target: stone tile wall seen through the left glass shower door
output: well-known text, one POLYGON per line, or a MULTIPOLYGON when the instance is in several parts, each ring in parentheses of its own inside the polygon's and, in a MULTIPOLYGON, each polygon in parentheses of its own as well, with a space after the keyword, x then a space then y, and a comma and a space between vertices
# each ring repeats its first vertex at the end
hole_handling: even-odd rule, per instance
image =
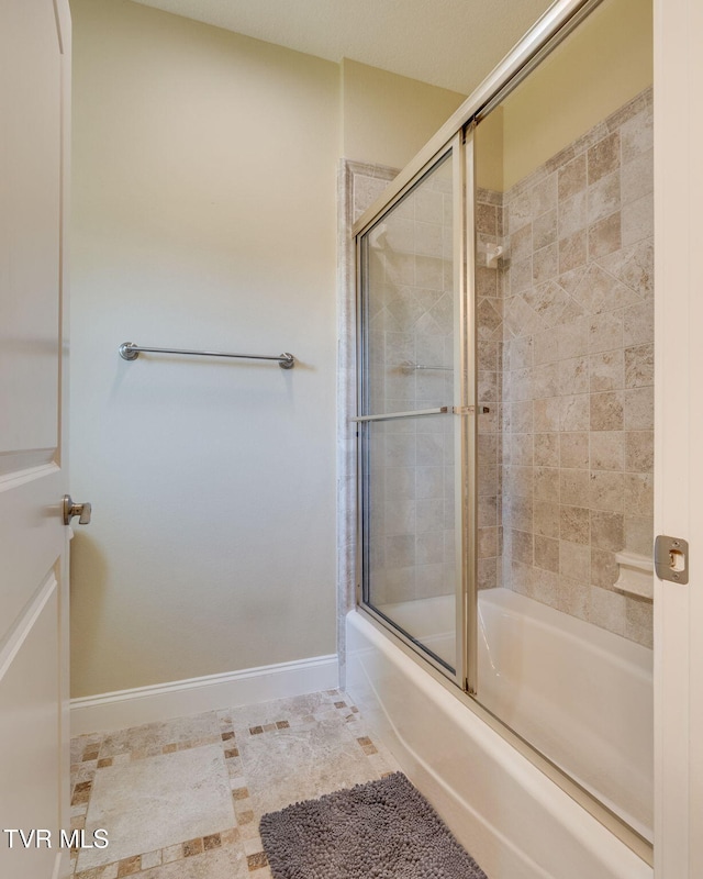
MULTIPOLYGON (((451 210, 449 180, 433 176, 372 236, 375 414, 453 402, 451 210)), ((375 604, 454 591, 453 422, 439 415, 370 427, 375 604)))

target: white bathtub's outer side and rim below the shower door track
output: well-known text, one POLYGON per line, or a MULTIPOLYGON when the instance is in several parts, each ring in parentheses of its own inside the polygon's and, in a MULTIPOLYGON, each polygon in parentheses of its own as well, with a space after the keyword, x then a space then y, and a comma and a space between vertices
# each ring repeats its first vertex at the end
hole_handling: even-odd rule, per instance
POLYGON ((366 616, 352 611, 347 626, 352 697, 491 879, 652 879, 647 864, 366 616))

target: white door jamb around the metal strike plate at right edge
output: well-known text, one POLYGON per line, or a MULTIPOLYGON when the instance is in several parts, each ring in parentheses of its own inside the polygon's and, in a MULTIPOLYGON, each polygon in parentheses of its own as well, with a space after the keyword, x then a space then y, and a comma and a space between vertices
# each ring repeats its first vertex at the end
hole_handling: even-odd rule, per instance
POLYGON ((655 876, 703 876, 703 3, 655 1, 655 528, 690 545, 655 580, 655 876))

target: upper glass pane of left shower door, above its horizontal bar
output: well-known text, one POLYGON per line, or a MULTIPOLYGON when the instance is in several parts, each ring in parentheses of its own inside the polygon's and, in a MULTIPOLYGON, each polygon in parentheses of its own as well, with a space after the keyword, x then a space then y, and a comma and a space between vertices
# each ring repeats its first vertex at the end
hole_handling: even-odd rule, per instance
POLYGON ((451 153, 364 235, 364 414, 446 405, 454 393, 451 153))

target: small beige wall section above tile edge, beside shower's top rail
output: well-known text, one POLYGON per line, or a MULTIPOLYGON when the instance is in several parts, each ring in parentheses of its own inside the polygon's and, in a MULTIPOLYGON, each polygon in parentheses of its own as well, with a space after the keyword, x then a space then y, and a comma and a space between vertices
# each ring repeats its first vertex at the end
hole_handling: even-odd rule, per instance
POLYGON ((403 168, 465 100, 465 94, 342 63, 344 155, 403 168))

